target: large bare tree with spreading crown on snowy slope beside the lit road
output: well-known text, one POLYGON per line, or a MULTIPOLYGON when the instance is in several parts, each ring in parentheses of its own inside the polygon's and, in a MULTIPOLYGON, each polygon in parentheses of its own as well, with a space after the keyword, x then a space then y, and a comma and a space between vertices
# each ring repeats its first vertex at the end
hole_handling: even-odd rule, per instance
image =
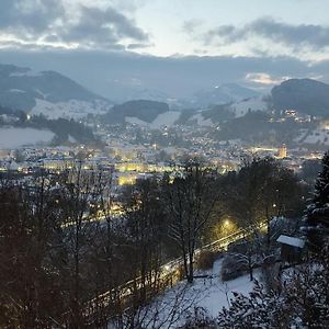
POLYGON ((193 282, 194 256, 202 229, 218 200, 217 173, 198 162, 189 162, 181 177, 167 183, 169 236, 178 245, 188 282, 193 282))

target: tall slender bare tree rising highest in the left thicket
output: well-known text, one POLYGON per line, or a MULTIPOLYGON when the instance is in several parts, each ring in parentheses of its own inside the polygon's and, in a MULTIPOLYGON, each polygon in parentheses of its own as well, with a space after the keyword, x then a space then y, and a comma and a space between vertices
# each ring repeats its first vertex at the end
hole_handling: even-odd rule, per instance
POLYGON ((102 193, 102 175, 97 170, 84 170, 79 161, 60 177, 59 202, 64 212, 64 243, 67 248, 66 275, 69 277, 68 322, 80 328, 83 325, 84 300, 90 294, 90 284, 82 285, 87 275, 87 256, 98 235, 99 222, 94 212, 102 193))

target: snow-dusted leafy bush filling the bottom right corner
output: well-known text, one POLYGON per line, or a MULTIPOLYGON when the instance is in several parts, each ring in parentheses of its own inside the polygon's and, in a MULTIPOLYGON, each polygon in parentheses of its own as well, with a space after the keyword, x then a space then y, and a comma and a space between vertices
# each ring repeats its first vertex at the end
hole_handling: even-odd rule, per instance
POLYGON ((329 246, 283 271, 276 288, 256 282, 249 296, 235 293, 218 316, 219 328, 329 328, 329 246))

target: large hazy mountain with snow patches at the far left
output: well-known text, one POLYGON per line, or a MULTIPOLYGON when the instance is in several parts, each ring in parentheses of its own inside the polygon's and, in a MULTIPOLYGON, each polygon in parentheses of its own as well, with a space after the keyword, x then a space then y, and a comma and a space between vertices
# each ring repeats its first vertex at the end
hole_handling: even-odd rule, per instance
POLYGON ((64 114, 67 117, 75 117, 77 112, 70 113, 73 112, 71 104, 66 106, 72 101, 84 105, 81 110, 82 116, 87 113, 99 112, 110 104, 106 99, 61 73, 34 72, 30 68, 0 65, 0 105, 32 113, 38 105, 35 114, 41 114, 43 107, 48 106, 48 113, 47 111, 43 113, 46 116, 59 117, 64 114), (60 113, 56 113, 58 106, 60 106, 60 113))

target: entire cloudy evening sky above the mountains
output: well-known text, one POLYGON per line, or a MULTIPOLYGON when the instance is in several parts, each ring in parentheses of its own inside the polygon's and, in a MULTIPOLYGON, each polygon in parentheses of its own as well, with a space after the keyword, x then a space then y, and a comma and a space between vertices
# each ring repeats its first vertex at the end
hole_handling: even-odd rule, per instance
POLYGON ((328 12, 327 0, 0 0, 0 61, 56 69, 107 97, 329 82, 328 12))

